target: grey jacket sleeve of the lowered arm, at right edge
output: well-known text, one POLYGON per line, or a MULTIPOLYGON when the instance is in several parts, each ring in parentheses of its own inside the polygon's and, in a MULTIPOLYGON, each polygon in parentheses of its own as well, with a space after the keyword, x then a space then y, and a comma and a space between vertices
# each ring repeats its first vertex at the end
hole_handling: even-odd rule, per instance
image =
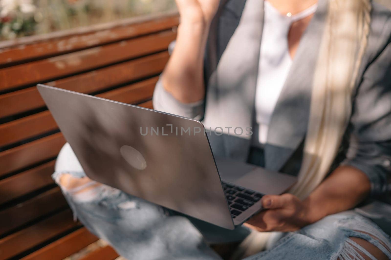
POLYGON ((344 165, 364 172, 371 196, 389 192, 391 175, 391 42, 366 68, 353 101, 344 165))

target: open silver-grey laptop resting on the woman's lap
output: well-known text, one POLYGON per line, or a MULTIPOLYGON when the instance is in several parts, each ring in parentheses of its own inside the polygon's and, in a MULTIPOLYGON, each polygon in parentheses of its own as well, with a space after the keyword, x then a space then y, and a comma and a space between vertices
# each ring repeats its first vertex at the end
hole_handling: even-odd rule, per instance
POLYGON ((201 122, 39 84, 57 125, 93 180, 227 229, 296 177, 213 156, 201 122))

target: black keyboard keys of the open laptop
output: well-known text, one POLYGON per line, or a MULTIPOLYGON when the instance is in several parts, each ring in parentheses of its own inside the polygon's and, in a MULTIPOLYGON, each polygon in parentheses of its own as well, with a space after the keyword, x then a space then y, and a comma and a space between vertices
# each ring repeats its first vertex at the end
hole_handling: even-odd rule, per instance
POLYGON ((236 218, 242 212, 258 202, 264 194, 222 181, 225 195, 230 205, 232 218, 236 218))

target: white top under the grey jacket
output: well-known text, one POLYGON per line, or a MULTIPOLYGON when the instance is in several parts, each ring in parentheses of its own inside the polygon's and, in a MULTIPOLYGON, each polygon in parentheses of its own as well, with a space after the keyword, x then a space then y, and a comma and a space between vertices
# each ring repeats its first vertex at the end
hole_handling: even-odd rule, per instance
POLYGON ((278 97, 292 65, 288 33, 293 22, 301 20, 317 9, 317 4, 292 15, 282 15, 265 1, 264 28, 260 49, 258 78, 255 91, 255 124, 253 145, 262 146, 278 97))

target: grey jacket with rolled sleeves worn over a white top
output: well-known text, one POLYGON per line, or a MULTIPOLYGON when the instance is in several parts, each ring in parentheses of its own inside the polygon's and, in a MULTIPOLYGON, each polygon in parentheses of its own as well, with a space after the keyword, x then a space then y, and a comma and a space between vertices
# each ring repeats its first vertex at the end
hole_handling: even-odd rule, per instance
MULTIPOLYGON (((205 126, 246 128, 253 122, 264 10, 259 0, 222 2, 206 48, 205 100, 180 103, 159 81, 153 105, 156 110, 202 120, 205 126), (242 18, 244 13, 251 21, 242 18), (235 52, 228 51, 230 48, 235 52), (226 67, 219 68, 222 59, 231 62, 224 62, 226 67), (238 70, 245 70, 246 78, 235 76, 238 70), (217 71, 224 71, 224 75, 218 75, 217 71), (218 85, 213 84, 216 80, 218 85)), ((273 112, 265 145, 265 164, 271 170, 297 174, 300 169, 327 5, 328 0, 319 0, 273 112)), ((341 145, 342 156, 337 157, 335 164, 351 165, 366 173, 372 185, 371 195, 381 196, 389 191, 391 173, 391 11, 374 2, 371 18, 368 47, 353 92, 346 142, 341 145)), ((210 138, 210 142, 214 154, 242 161, 247 159, 251 143, 249 138, 225 134, 210 138)))

